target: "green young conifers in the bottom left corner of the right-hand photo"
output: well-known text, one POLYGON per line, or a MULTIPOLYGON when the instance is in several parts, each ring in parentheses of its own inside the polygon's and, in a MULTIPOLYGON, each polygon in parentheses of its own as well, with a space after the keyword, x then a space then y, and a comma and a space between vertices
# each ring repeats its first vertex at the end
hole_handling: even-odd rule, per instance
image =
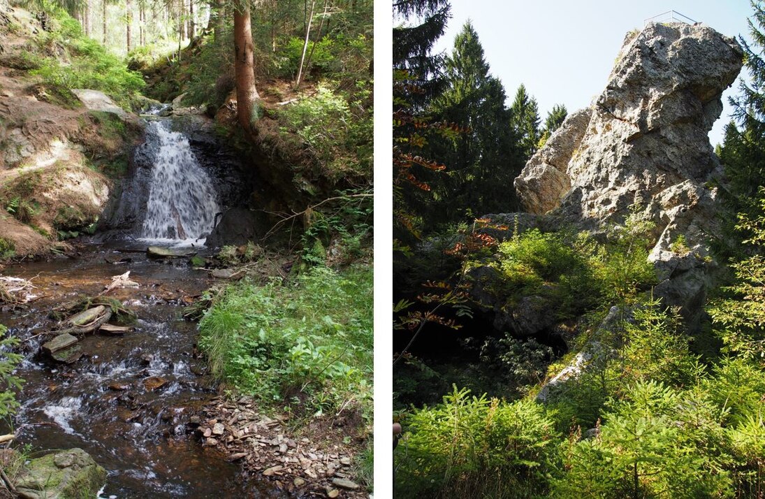
POLYGON ((397 497, 531 497, 555 453, 552 419, 529 400, 454 390, 405 419, 396 451, 397 497))

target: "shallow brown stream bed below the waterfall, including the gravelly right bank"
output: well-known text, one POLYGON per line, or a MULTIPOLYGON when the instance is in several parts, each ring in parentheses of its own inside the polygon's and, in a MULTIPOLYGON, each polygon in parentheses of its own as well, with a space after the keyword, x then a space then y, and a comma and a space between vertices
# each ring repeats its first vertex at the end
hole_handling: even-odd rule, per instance
POLYGON ((84 449, 108 473, 99 497, 366 497, 351 481, 352 445, 295 435, 249 397, 218 393, 182 315, 216 279, 145 247, 78 244, 71 257, 3 269, 34 288, 28 303, 0 308, 25 354, 15 427, 2 422, 0 434, 35 455, 84 449), (104 292, 127 271, 138 287, 104 292), (70 364, 46 354, 44 333, 60 326, 50 311, 100 293, 135 312, 129 331, 78 335, 70 364))

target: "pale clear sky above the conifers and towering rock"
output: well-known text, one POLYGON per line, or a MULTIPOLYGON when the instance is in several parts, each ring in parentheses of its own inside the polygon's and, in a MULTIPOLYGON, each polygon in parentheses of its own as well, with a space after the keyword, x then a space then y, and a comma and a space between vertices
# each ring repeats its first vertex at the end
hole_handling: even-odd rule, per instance
MULTIPOLYGON (((748 0, 451 0, 452 18, 436 51, 451 52, 454 36, 469 18, 509 102, 523 83, 539 103, 543 122, 555 104, 565 104, 569 113, 588 106, 604 90, 627 31, 670 10, 748 39, 748 0)), ((727 96, 737 86, 724 93, 725 109, 709 134, 712 145, 722 142, 731 114, 727 96)))

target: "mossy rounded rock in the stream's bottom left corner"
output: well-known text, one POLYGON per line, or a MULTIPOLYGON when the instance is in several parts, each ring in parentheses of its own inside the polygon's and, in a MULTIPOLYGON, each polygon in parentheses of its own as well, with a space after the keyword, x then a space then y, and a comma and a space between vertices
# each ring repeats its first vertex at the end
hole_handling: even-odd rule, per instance
POLYGON ((70 448, 29 461, 16 489, 24 499, 85 499, 105 482, 104 468, 83 449, 70 448))

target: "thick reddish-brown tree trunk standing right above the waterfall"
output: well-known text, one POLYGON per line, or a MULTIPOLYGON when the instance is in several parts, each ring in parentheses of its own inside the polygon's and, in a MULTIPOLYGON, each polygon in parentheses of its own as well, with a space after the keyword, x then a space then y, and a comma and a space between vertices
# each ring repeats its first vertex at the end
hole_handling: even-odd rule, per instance
POLYGON ((252 28, 249 5, 243 2, 234 9, 234 73, 236 75, 236 113, 239 124, 252 132, 260 96, 255 87, 255 64, 252 58, 252 28))

